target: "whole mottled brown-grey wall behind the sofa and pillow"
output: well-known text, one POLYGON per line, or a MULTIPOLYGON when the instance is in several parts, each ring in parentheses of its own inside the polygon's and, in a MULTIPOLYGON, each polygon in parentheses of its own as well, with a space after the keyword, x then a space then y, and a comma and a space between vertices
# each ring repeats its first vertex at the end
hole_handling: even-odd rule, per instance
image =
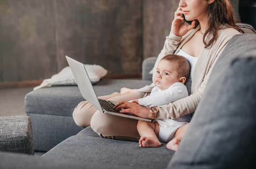
MULTIPOLYGON (((238 0, 233 0, 238 9, 238 0)), ((108 74, 157 56, 179 0, 0 0, 0 82, 50 78, 65 55, 108 74)))

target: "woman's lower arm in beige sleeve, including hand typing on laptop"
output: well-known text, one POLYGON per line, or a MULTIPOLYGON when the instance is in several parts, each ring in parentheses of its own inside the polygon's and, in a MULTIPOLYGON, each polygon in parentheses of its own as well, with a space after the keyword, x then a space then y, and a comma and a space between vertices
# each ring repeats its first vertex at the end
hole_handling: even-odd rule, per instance
MULTIPOLYGON (((211 71, 216 64, 216 61, 222 54, 222 51, 226 47, 226 44, 229 42, 229 40, 237 34, 239 34, 239 32, 235 31, 234 29, 223 29, 219 31, 219 39, 217 40, 215 45, 211 47, 211 50, 207 53, 209 56, 211 56, 209 58, 210 61, 208 61, 207 63, 202 63, 205 70, 202 72, 199 71, 200 74, 198 76, 202 77, 202 80, 200 78, 199 80, 193 79, 194 82, 195 80, 199 81, 198 83, 192 83, 192 86, 194 86, 192 88, 196 89, 196 91, 193 92, 190 96, 174 101, 173 103, 158 106, 159 113, 157 115, 157 119, 177 119, 182 115, 187 115, 196 111, 196 107, 199 104, 199 101, 203 95, 208 79, 211 75, 211 71), (197 87, 197 85, 199 86, 197 87)), ((133 108, 132 104, 122 102, 116 108, 128 108, 120 112, 132 112, 133 114, 144 118, 151 117, 149 108, 145 108, 143 106, 140 106, 139 104, 136 104, 136 107, 133 108)))

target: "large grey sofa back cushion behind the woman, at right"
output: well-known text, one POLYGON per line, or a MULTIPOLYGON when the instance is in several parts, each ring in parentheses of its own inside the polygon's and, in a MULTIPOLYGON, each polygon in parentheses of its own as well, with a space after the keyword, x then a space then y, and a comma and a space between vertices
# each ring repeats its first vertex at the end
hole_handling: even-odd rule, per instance
POLYGON ((255 44, 256 35, 242 34, 230 40, 170 169, 256 168, 255 44))

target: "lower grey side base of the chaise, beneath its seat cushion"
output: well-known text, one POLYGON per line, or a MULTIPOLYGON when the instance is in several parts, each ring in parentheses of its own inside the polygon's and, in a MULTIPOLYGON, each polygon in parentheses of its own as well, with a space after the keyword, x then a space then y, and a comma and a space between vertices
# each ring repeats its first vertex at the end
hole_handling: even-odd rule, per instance
POLYGON ((72 116, 27 113, 31 118, 34 149, 49 151, 51 148, 74 136, 83 128, 75 124, 72 116))

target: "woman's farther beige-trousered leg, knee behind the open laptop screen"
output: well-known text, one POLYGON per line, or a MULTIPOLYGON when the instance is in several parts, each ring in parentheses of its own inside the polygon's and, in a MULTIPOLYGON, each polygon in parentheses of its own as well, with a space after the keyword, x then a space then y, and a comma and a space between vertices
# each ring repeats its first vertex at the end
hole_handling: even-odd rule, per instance
MULTIPOLYGON (((98 97, 98 98, 110 99, 112 97, 117 97, 117 96, 121 96, 121 94, 115 92, 113 94, 98 97)), ((86 128, 90 126, 91 117, 94 115, 96 111, 97 111, 97 108, 91 105, 88 101, 82 101, 75 107, 73 111, 73 119, 78 126, 86 128)))

